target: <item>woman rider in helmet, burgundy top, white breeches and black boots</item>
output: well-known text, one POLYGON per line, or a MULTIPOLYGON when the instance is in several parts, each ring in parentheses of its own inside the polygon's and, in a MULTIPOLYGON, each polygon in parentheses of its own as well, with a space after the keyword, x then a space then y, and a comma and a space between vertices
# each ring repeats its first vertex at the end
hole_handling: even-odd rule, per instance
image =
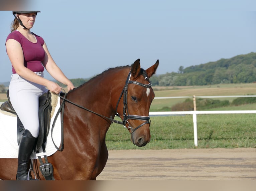
POLYGON ((48 90, 55 94, 61 91, 58 84, 43 78, 44 68, 68 90, 74 85, 53 61, 43 38, 30 31, 40 11, 12 13, 15 19, 5 44, 12 64, 9 96, 25 128, 19 143, 16 180, 27 180, 29 157, 39 134, 38 98, 48 90))

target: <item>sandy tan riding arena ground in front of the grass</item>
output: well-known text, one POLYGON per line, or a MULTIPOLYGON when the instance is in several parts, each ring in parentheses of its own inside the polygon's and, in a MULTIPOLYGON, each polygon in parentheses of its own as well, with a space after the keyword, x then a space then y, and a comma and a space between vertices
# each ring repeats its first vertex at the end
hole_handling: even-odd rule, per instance
POLYGON ((256 180, 256 148, 110 150, 97 180, 256 180))

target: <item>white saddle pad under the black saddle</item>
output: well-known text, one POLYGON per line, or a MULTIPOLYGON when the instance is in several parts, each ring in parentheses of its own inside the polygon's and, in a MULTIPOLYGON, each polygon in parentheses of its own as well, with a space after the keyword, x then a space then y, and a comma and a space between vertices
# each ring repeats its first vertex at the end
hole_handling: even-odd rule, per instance
MULTIPOLYGON (((56 96, 56 95, 55 95, 56 96)), ((57 149, 55 148, 52 139, 51 139, 51 128, 53 119, 59 108, 59 100, 56 101, 57 107, 54 110, 54 113, 51 118, 50 130, 45 143, 45 151, 46 155, 50 156, 54 154, 57 149)), ((52 105, 53 107, 53 105, 52 105)), ((53 127, 53 141, 59 146, 60 145, 60 114, 56 120, 56 123, 53 127)), ((17 118, 15 116, 6 115, 0 112, 0 158, 18 158, 18 143, 17 143, 17 118)), ((41 149, 39 149, 40 151, 41 149)), ((39 154, 34 154, 34 158, 38 158, 37 156, 43 156, 45 153, 41 152, 39 154)))

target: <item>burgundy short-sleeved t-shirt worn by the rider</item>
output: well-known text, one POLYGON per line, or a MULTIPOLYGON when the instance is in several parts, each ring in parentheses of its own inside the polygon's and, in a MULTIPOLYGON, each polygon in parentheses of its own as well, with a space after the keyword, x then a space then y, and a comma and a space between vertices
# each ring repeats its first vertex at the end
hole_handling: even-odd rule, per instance
MULTIPOLYGON (((42 72, 44 67, 41 63, 43 61, 45 52, 43 49, 44 40, 42 37, 32 33, 36 38, 36 43, 32 43, 26 39, 19 31, 15 30, 7 36, 7 39, 14 39, 21 44, 24 54, 24 66, 33 72, 42 72)), ((12 73, 16 74, 12 67, 12 73)))

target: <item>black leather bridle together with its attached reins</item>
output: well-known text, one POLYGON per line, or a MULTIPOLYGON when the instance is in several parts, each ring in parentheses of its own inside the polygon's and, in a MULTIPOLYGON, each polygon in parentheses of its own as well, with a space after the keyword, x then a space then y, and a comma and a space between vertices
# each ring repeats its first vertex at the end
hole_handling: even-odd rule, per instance
MULTIPOLYGON (((116 105, 116 111, 117 111, 117 107, 118 107, 118 105, 119 105, 119 102, 120 102, 120 100, 121 100, 121 97, 122 97, 122 95, 124 95, 124 96, 123 96, 123 104, 124 104, 124 107, 123 107, 123 121, 115 120, 115 119, 112 118, 112 116, 106 117, 106 116, 104 116, 104 115, 101 115, 101 114, 99 114, 99 113, 96 113, 96 112, 94 112, 94 111, 92 111, 92 110, 90 110, 90 109, 87 109, 86 107, 83 107, 83 106, 81 106, 81 105, 78 105, 78 104, 76 104, 76 103, 70 101, 69 99, 66 98, 66 97, 67 97, 67 93, 65 92, 65 90, 62 89, 62 90, 65 92, 65 95, 64 95, 64 97, 63 97, 63 96, 61 96, 61 95, 58 94, 58 96, 59 96, 61 99, 63 99, 63 101, 62 101, 62 103, 61 103, 61 105, 60 105, 60 107, 59 107, 59 109, 58 109, 58 111, 57 111, 57 114, 56 114, 54 120, 53 120, 52 129, 51 129, 51 137, 52 137, 53 127, 54 127, 54 125, 55 125, 57 116, 58 116, 59 113, 61 112, 61 142, 60 142, 60 148, 59 148, 59 147, 57 147, 57 146, 55 145, 55 143, 54 143, 54 141, 53 141, 53 138, 52 138, 52 141, 53 141, 53 144, 54 144, 55 148, 56 148, 57 150, 59 150, 59 151, 62 151, 62 150, 64 149, 64 144, 63 144, 63 140, 64 140, 64 137, 63 137, 63 115, 64 115, 65 101, 67 101, 67 102, 69 102, 69 103, 71 103, 71 104, 73 104, 73 105, 76 105, 76 106, 79 107, 79 108, 82 108, 82 109, 84 109, 84 110, 87 110, 87 111, 89 111, 89 112, 91 112, 91 113, 94 113, 94 114, 96 114, 96 115, 98 115, 98 116, 100 116, 100 117, 103 117, 103 118, 105 118, 105 119, 108 119, 108 120, 111 121, 111 123, 118 123, 118 124, 121 124, 121 125, 123 125, 125 128, 131 129, 131 130, 132 130, 131 134, 132 134, 134 131, 136 131, 138 128, 140 128, 141 126, 143 126, 143 125, 145 125, 145 124, 147 124, 147 123, 150 125, 150 117, 149 117, 149 116, 130 115, 129 112, 128 112, 128 105, 127 105, 128 84, 135 84, 135 85, 142 86, 142 87, 144 87, 144 88, 150 88, 150 87, 151 87, 151 81, 149 81, 149 79, 148 79, 148 77, 146 76, 145 73, 143 73, 143 76, 144 76, 145 80, 147 80, 147 81, 149 82, 149 84, 142 84, 142 83, 137 82, 137 81, 130 81, 130 78, 131 78, 131 71, 130 71, 129 74, 128 74, 128 77, 127 77, 126 82, 125 82, 125 86, 124 86, 124 88, 123 88, 123 90, 122 90, 122 92, 121 92, 121 95, 120 95, 120 97, 119 97, 119 99, 118 99, 118 102, 117 102, 117 105, 116 105), (126 114, 126 110, 127 110, 127 114, 126 114), (127 120, 129 120, 129 119, 133 119, 133 120, 142 120, 142 121, 145 121, 145 122, 142 123, 142 124, 140 124, 139 126, 137 126, 136 128, 133 129, 133 128, 130 126, 130 123, 127 121, 127 120), (128 125, 129 125, 128 127, 126 127, 126 123, 128 123, 128 125)), ((120 117, 120 115, 119 115, 117 112, 116 112, 116 116, 120 117)), ((120 118, 121 118, 121 117, 120 117, 120 118)))

